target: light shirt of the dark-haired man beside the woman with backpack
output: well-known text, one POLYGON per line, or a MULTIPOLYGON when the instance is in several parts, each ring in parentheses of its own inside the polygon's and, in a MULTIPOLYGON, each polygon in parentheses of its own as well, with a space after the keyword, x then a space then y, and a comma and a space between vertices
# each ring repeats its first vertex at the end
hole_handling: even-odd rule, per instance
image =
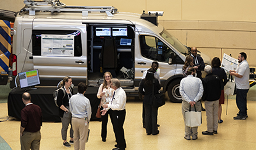
POLYGON ((90 101, 84 96, 84 94, 77 93, 71 96, 69 100, 69 109, 72 113, 72 117, 83 118, 87 117, 88 121, 91 119, 92 109, 90 101))

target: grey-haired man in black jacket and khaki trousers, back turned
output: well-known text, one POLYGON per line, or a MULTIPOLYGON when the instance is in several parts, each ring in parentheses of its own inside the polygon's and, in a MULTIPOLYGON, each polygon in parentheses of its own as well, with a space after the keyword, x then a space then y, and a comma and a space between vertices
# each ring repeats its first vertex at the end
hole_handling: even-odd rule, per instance
POLYGON ((217 75, 212 74, 212 67, 205 66, 206 77, 203 79, 205 111, 207 117, 207 130, 202 131, 203 135, 217 134, 218 130, 218 107, 221 94, 221 80, 217 75))

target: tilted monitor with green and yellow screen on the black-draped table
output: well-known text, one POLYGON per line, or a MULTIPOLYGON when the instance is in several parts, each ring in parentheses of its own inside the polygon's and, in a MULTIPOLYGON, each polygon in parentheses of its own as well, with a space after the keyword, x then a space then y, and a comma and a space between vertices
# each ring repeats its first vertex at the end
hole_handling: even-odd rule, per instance
POLYGON ((19 82, 20 88, 31 87, 40 84, 39 73, 38 70, 31 70, 26 72, 20 72, 19 82))

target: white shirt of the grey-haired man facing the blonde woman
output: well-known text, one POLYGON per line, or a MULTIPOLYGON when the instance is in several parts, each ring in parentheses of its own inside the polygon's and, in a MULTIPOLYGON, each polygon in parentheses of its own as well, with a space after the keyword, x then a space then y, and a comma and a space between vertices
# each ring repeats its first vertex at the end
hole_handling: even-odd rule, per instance
POLYGON ((126 105, 126 94, 122 87, 119 87, 114 92, 112 101, 108 104, 108 108, 112 110, 124 110, 126 105))

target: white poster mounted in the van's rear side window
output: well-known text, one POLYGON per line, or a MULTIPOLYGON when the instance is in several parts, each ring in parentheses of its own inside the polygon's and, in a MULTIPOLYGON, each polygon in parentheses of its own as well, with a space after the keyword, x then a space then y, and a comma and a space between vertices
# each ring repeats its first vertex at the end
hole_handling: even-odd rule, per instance
POLYGON ((42 56, 74 56, 74 35, 42 34, 42 56))

